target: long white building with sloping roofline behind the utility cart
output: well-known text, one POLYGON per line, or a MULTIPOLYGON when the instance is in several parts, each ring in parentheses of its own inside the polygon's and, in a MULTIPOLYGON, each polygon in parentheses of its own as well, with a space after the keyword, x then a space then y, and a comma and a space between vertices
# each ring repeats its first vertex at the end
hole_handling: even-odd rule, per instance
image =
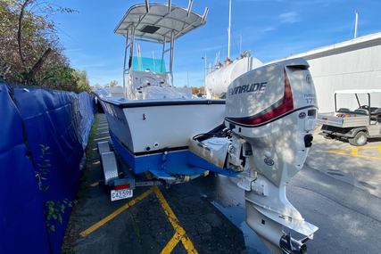
MULTIPOLYGON (((319 112, 334 111, 336 90, 381 88, 381 32, 294 54, 277 61, 296 57, 303 57, 310 63, 319 112)), ((338 98, 339 108, 358 108, 354 96, 340 96, 348 97, 338 98)), ((365 100, 366 98, 360 98, 361 102, 365 100)), ((381 96, 372 97, 372 106, 381 107, 381 96)))

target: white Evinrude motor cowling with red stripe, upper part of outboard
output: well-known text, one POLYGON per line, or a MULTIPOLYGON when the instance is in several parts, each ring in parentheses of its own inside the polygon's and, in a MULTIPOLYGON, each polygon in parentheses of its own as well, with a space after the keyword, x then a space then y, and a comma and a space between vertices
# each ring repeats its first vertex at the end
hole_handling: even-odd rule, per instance
POLYGON ((252 144, 257 171, 276 185, 302 168, 311 147, 317 100, 308 68, 304 59, 281 61, 228 87, 225 125, 252 144))

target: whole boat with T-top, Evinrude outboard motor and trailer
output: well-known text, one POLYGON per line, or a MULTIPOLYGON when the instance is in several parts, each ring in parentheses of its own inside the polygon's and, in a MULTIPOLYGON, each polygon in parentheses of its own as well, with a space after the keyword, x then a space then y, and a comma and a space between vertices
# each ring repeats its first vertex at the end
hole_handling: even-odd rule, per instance
POLYGON ((93 90, 110 126, 113 152, 108 142, 98 143, 98 152, 104 183, 114 188, 112 201, 132 197, 135 186, 178 184, 209 170, 226 176, 246 171, 237 185, 244 190, 247 225, 274 254, 306 253, 305 242, 318 227, 287 200, 286 185, 302 169, 316 126, 310 65, 304 59, 272 63, 230 80, 226 101, 194 98, 173 86, 172 75, 175 39, 206 22, 207 10, 191 11, 192 2, 184 8, 145 1, 129 8, 114 30, 127 38, 123 96, 93 90), (137 39, 162 44, 170 70, 162 60, 134 59, 137 39), (160 181, 136 181, 128 166, 160 181), (285 226, 305 238, 292 238, 285 226))

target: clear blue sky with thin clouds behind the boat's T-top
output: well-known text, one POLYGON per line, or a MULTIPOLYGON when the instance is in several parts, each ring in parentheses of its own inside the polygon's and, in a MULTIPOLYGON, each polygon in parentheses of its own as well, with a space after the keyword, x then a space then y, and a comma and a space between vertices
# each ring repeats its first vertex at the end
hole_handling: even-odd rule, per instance
MULTIPOLYGON (((121 17, 141 1, 57 0, 55 4, 79 13, 57 14, 54 22, 71 66, 86 69, 90 85, 112 80, 122 85, 125 38, 113 34, 121 17)), ((149 1, 168 3, 168 1, 149 1)), ((175 42, 174 85, 203 86, 205 55, 213 63, 228 55, 228 0, 194 0, 192 10, 207 23, 175 42), (224 53, 225 47, 225 53, 224 53)), ((187 6, 188 1, 172 0, 187 6)), ((355 12, 359 12, 358 37, 381 31, 379 0, 232 0, 231 58, 242 50, 262 62, 339 43, 354 36, 355 12)), ((138 42, 139 43, 139 42, 138 42)), ((152 44, 139 43, 142 56, 152 56, 152 44)), ((157 46, 156 46, 157 48, 157 46)), ((155 55, 159 55, 159 50, 155 55)))

